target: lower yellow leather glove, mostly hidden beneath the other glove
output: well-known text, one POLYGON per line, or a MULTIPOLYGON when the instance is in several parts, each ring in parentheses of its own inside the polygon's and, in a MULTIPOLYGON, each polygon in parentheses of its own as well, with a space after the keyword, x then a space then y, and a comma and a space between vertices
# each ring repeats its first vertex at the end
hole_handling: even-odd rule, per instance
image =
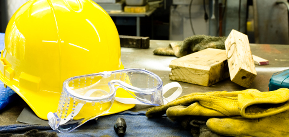
POLYGON ((289 137, 289 111, 264 118, 210 118, 208 128, 226 136, 289 137))

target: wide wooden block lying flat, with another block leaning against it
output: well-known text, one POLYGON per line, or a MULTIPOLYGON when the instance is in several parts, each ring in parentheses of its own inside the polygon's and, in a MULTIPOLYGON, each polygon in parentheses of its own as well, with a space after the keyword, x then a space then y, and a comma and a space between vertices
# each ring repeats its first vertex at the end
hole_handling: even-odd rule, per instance
POLYGON ((171 61, 169 79, 211 86, 229 77, 226 50, 207 48, 171 61))

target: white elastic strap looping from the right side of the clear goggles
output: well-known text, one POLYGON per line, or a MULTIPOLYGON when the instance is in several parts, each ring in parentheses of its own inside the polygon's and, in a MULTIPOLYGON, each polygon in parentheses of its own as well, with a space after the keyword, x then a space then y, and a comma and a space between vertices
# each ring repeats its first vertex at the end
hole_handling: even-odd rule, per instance
MULTIPOLYGON (((178 83, 178 82, 171 82, 171 83, 168 83, 166 85, 164 85, 163 87, 163 94, 165 94, 167 91, 169 91, 170 89, 174 88, 174 87, 177 87, 178 89, 172 94, 170 95, 169 97, 165 98, 163 97, 164 99, 164 105, 177 99, 179 97, 179 95, 182 94, 182 87, 181 85, 178 83)), ((123 103, 123 104, 138 104, 138 105, 147 105, 143 102, 140 102, 139 100, 135 99, 135 98, 121 98, 121 97, 115 97, 115 100, 117 102, 120 102, 120 103, 123 103)))

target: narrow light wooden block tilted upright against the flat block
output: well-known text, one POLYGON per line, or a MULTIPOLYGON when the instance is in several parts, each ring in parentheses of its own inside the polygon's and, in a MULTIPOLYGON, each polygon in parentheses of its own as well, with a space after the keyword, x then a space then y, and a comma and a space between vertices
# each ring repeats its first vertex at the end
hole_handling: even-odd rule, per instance
POLYGON ((225 47, 231 81, 248 88, 257 75, 248 36, 232 30, 225 41, 225 47))

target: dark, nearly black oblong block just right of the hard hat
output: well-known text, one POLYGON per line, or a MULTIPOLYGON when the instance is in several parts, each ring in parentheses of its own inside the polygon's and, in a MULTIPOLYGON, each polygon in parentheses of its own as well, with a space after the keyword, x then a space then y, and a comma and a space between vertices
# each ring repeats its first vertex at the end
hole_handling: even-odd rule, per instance
POLYGON ((120 35, 120 47, 149 48, 149 37, 120 35))

